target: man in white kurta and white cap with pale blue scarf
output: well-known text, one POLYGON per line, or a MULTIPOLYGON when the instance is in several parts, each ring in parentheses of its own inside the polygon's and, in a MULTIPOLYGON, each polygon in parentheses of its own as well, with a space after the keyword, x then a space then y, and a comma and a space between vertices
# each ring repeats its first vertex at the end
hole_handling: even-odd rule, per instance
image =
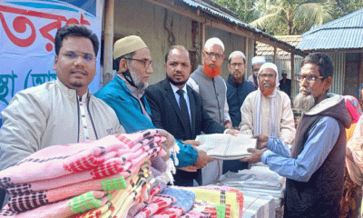
POLYGON ((294 116, 288 94, 277 89, 278 78, 275 64, 262 64, 258 74, 259 89, 247 95, 240 108, 240 132, 280 137, 291 144, 296 132, 294 116))

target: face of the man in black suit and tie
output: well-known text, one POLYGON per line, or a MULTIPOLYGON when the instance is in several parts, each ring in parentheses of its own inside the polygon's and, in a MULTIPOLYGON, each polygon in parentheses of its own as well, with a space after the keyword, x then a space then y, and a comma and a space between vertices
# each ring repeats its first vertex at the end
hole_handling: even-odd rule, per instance
POLYGON ((191 60, 187 52, 172 49, 164 66, 169 81, 179 88, 184 87, 191 74, 191 60))

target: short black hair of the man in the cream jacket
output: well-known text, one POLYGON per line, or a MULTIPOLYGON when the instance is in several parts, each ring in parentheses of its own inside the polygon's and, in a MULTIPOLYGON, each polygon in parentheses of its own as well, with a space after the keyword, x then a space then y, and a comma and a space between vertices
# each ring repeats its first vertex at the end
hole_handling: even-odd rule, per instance
POLYGON ((97 55, 100 41, 98 40, 97 35, 93 34, 92 30, 85 27, 85 25, 64 25, 57 31, 54 38, 56 55, 59 55, 63 40, 69 36, 89 38, 93 44, 94 54, 97 55))

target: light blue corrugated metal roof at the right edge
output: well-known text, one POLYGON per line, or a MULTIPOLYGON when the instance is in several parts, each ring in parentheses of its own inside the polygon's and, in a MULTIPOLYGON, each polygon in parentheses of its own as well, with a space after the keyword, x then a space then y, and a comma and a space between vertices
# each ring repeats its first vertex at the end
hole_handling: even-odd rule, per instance
POLYGON ((331 21, 302 35, 302 50, 363 48, 363 9, 331 21))

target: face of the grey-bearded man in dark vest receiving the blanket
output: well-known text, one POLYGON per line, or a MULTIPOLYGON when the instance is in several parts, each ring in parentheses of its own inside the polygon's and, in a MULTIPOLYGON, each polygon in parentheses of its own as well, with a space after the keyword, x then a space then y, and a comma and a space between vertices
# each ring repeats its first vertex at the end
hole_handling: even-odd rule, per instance
POLYGON ((307 79, 299 81, 300 93, 307 96, 311 94, 315 99, 315 104, 321 102, 329 90, 331 77, 325 79, 319 77, 321 74, 319 73, 319 65, 317 64, 304 64, 301 67, 300 74, 312 74, 317 76, 317 79, 315 81, 311 81, 310 83, 307 81, 307 79))

